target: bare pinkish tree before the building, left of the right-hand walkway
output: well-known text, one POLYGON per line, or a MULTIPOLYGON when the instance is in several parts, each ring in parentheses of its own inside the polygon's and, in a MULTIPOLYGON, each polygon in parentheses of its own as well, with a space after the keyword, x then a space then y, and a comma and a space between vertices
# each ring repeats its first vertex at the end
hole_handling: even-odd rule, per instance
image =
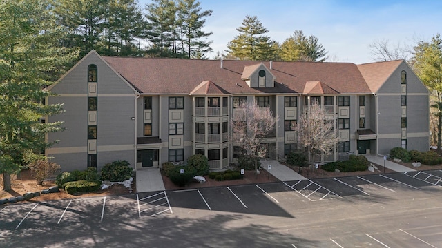
POLYGON ((259 107, 256 101, 240 103, 231 120, 233 142, 242 148, 243 155, 249 158, 264 158, 267 149, 261 145, 261 141, 275 130, 277 119, 269 107, 259 107))

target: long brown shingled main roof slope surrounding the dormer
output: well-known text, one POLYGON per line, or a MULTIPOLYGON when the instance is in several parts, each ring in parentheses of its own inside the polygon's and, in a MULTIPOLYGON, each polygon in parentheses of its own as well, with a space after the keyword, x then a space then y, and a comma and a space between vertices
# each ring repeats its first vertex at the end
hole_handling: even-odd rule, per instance
POLYGON ((146 94, 195 94, 202 81, 211 81, 214 87, 228 94, 301 94, 307 81, 320 81, 326 94, 372 93, 358 65, 353 63, 273 61, 269 71, 276 78, 275 87, 251 88, 242 80, 244 68, 253 69, 261 63, 270 68, 269 61, 224 60, 221 68, 221 62, 213 60, 113 56, 103 59, 140 93, 146 94))

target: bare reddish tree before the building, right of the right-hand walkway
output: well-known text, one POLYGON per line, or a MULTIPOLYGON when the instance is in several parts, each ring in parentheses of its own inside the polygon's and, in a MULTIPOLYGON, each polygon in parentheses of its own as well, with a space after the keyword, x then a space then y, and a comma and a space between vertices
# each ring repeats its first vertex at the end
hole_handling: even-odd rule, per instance
POLYGON ((339 142, 334 123, 327 121, 318 103, 304 107, 295 127, 298 144, 307 149, 309 161, 312 154, 331 154, 339 142))

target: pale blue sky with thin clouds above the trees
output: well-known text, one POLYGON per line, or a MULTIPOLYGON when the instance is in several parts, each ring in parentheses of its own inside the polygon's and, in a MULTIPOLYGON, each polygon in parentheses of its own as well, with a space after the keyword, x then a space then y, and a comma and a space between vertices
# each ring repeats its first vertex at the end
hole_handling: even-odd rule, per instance
MULTIPOLYGON (((139 0, 144 8, 150 0, 139 0)), ((318 43, 332 62, 356 64, 374 61, 369 45, 388 41, 391 47, 412 48, 417 41, 430 41, 442 31, 442 1, 439 0, 200 0, 202 10, 213 10, 203 30, 213 32, 213 59, 226 53, 227 43, 239 34, 244 18, 256 16, 267 35, 282 43, 295 30, 318 43)))

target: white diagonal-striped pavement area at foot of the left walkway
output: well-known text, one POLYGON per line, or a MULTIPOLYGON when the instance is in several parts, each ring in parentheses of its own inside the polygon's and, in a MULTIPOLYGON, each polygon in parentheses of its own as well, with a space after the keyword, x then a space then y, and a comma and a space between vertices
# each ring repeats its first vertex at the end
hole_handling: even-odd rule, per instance
POLYGON ((164 191, 139 193, 136 197, 139 217, 173 213, 169 196, 164 191))

